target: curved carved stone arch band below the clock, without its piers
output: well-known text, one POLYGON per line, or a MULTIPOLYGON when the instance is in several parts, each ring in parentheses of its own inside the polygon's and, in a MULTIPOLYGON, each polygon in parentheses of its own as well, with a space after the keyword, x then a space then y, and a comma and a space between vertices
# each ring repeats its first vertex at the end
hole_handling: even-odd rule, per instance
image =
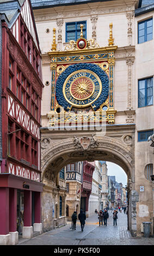
POLYGON ((42 180, 47 178, 54 181, 59 171, 69 163, 103 160, 118 164, 125 170, 128 179, 134 182, 131 147, 118 139, 107 136, 96 137, 95 142, 97 144, 91 145, 87 150, 76 145, 75 138, 63 139, 61 143, 52 144, 52 147, 48 147, 42 153, 42 180))

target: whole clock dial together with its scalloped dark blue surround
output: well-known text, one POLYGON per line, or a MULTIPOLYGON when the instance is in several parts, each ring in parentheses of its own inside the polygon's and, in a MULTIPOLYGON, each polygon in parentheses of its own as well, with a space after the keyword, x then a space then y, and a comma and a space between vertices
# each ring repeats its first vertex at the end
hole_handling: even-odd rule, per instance
POLYGON ((100 108, 109 94, 109 78, 92 63, 71 64, 56 81, 56 100, 65 111, 73 108, 100 108))

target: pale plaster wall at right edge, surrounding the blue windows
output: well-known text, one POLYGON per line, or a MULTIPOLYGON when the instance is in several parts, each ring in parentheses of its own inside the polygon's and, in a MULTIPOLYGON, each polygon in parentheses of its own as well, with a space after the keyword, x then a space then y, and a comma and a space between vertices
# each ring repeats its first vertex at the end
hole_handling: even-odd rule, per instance
MULTIPOLYGON (((149 19, 153 11, 135 17, 135 190, 139 193, 137 207, 138 227, 139 221, 150 221, 153 216, 152 209, 152 181, 145 178, 144 169, 146 164, 153 163, 153 148, 149 142, 138 142, 138 131, 152 130, 154 124, 154 107, 146 106, 138 108, 138 80, 151 77, 154 74, 153 40, 138 44, 138 22, 149 19), (139 161, 140 160, 140 161, 139 161), (144 192, 139 187, 144 186, 144 192)), ((153 31, 154 32, 154 31, 153 31)), ((154 101, 153 101, 154 102, 154 101)))

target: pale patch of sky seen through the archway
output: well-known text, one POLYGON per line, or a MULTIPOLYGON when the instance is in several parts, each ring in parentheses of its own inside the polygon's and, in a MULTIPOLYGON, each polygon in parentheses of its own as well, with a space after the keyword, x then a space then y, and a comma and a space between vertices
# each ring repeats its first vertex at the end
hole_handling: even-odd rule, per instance
POLYGON ((107 162, 108 175, 115 176, 115 180, 118 183, 122 183, 123 187, 127 185, 127 175, 125 171, 115 163, 107 162))

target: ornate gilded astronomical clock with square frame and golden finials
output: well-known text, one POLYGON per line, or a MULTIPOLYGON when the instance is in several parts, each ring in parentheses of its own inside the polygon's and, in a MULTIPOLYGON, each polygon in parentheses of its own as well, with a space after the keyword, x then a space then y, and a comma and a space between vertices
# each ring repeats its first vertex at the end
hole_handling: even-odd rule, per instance
POLYGON ((95 40, 83 38, 83 25, 77 41, 71 40, 64 51, 56 50, 53 29, 51 56, 51 111, 49 125, 65 121, 105 121, 114 124, 114 51, 112 23, 109 45, 99 47, 95 40))

